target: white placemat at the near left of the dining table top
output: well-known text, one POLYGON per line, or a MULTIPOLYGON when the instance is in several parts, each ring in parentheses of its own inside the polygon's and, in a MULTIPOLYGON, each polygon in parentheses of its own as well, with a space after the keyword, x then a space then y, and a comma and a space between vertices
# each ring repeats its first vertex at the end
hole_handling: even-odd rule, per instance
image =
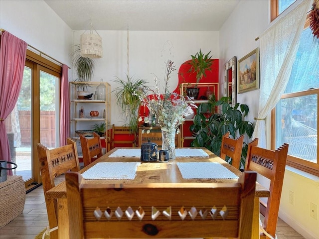
POLYGON ((140 162, 103 162, 89 168, 84 179, 134 179, 140 162))

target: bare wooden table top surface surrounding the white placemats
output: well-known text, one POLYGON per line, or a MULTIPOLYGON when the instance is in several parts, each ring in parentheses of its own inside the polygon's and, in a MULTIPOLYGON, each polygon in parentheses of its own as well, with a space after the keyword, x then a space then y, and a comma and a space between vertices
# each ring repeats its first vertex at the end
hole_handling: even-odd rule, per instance
MULTIPOLYGON (((96 163, 99 162, 141 162, 140 157, 109 157, 117 148, 112 149, 99 159, 92 162, 90 165, 84 167, 79 172, 83 173, 96 163)), ((132 148, 131 148, 132 149, 132 148)), ((175 160, 169 162, 141 162, 138 166, 136 177, 134 179, 99 179, 99 180, 86 180, 89 183, 235 183, 237 179, 183 179, 178 169, 177 162, 218 162, 224 167, 229 169, 235 175, 240 176, 241 171, 231 166, 225 160, 213 154, 206 148, 203 149, 208 157, 176 157, 175 160)), ((65 198, 66 187, 65 182, 61 182, 54 188, 47 191, 46 196, 48 198, 65 198)), ((255 197, 270 197, 270 191, 259 183, 256 184, 255 197)))

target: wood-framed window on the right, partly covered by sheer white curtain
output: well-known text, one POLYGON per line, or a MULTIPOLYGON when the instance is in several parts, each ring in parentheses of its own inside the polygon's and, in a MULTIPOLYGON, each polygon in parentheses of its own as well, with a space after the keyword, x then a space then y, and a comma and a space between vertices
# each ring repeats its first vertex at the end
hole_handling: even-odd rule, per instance
MULTIPOLYGON (((294 0, 277 0, 281 13, 294 0), (290 4, 288 4, 290 3, 290 4)), ((272 5, 273 7, 273 5, 272 5)), ((289 143, 287 164, 319 176, 318 102, 319 43, 309 24, 300 38, 292 73, 285 93, 273 111, 273 147, 289 143)))

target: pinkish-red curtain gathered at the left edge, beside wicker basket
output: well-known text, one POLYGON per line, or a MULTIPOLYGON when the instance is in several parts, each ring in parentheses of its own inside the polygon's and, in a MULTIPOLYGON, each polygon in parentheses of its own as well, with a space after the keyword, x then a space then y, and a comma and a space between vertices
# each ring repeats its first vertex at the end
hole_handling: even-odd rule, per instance
MULTIPOLYGON (((11 162, 4 120, 13 110, 21 89, 27 43, 5 31, 0 43, 0 160, 11 162)), ((12 170, 7 170, 12 175, 12 170)))

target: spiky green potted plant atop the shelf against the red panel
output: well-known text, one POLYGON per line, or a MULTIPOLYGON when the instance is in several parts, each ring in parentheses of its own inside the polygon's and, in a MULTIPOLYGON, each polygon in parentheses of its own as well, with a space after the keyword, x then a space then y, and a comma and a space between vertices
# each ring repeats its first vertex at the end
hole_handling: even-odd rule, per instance
POLYGON ((193 88, 186 89, 187 95, 189 97, 194 97, 194 99, 197 99, 199 93, 197 84, 203 77, 206 77, 206 71, 211 71, 213 59, 211 59, 212 56, 209 55, 210 52, 211 51, 209 51, 207 54, 204 54, 201 49, 199 49, 199 52, 197 52, 195 55, 190 55, 191 61, 188 64, 190 64, 191 67, 188 72, 196 74, 196 84, 193 88))

